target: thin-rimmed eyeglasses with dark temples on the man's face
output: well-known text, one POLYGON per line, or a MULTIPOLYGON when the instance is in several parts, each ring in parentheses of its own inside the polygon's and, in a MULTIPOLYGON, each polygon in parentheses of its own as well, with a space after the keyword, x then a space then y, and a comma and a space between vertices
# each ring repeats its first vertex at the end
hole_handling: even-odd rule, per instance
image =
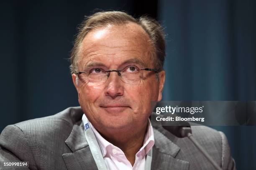
POLYGON ((76 75, 79 75, 79 78, 84 80, 84 82, 91 82, 95 84, 101 84, 108 80, 110 72, 117 72, 120 79, 128 84, 138 84, 141 79, 143 79, 142 71, 153 71, 159 72, 159 70, 152 68, 143 68, 140 69, 135 65, 129 65, 123 70, 107 70, 100 67, 88 68, 84 72, 77 72, 76 75))

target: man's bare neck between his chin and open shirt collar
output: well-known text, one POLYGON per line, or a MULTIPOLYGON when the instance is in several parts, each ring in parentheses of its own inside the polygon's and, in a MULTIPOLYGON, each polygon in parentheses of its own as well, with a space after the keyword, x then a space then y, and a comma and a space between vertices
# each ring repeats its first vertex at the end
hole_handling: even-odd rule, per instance
MULTIPOLYGON (((147 124, 142 126, 140 130, 133 128, 133 130, 122 130, 111 134, 100 133, 108 142, 120 148, 125 157, 133 166, 135 163, 135 155, 143 146, 144 137, 147 130, 147 124)), ((106 131, 105 131, 106 132, 106 131)))

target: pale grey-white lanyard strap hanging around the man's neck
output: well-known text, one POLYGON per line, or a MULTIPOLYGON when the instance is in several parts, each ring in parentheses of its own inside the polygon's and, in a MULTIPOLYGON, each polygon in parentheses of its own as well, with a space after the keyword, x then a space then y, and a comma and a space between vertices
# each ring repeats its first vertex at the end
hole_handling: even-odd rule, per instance
MULTIPOLYGON (((87 117, 83 115, 82 120, 84 122, 84 134, 85 138, 87 140, 87 143, 90 147, 92 157, 95 160, 95 163, 97 165, 98 170, 108 170, 105 161, 103 159, 100 146, 97 142, 97 139, 95 137, 95 134, 92 131, 92 128, 90 127, 90 123, 87 120, 87 117)), ((151 161, 152 161, 152 148, 149 151, 149 153, 146 156, 146 163, 145 163, 145 170, 151 169, 151 161)))

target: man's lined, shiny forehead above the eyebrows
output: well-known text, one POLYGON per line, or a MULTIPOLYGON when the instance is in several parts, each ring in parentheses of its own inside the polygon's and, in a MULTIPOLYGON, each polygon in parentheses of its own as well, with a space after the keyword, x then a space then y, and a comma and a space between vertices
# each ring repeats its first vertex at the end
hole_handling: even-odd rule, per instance
POLYGON ((148 34, 136 23, 108 25, 90 31, 79 48, 79 65, 89 61, 118 64, 131 58, 151 62, 148 34))

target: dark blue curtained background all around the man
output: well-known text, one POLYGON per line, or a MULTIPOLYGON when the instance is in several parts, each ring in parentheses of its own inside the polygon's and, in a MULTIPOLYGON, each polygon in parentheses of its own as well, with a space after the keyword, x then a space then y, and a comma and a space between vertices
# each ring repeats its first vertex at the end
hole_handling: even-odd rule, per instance
MULTIPOLYGON (((167 34, 164 100, 256 100, 256 1, 2 1, 0 131, 77 106, 69 73, 76 27, 94 9, 148 13, 167 34)), ((256 127, 213 127, 237 169, 256 169, 256 127)))

